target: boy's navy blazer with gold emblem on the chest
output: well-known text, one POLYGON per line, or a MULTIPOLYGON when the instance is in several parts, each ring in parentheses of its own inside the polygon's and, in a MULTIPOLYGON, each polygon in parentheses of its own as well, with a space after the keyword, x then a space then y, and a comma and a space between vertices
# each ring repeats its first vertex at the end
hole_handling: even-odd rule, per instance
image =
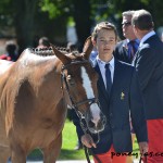
MULTIPOLYGON (((102 112, 106 116, 106 124, 104 130, 100 133, 100 141, 97 148, 92 148, 92 151, 95 153, 104 153, 109 151, 113 145, 116 152, 131 152, 129 112, 138 142, 147 141, 148 139, 143 103, 135 68, 115 60, 110 98, 105 90, 98 64, 96 64, 95 68, 99 74, 97 84, 99 102, 102 112)), ((80 138, 84 133, 77 118, 75 118, 74 122, 80 138)), ((97 135, 91 136, 96 141, 97 135)))

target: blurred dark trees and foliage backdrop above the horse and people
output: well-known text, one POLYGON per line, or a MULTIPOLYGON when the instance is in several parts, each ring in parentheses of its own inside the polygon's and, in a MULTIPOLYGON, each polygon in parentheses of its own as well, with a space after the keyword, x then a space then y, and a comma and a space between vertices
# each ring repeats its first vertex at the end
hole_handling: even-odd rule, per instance
POLYGON ((16 41, 21 53, 37 47, 42 36, 61 47, 71 41, 80 51, 92 27, 101 21, 114 23, 123 39, 122 12, 139 9, 151 12, 162 37, 162 0, 0 0, 0 53, 9 39, 16 41))

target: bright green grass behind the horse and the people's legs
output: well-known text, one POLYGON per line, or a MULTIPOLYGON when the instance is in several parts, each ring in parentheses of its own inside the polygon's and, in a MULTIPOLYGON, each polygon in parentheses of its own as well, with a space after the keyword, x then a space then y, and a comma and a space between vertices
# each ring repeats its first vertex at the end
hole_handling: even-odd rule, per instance
MULTIPOLYGON (((74 150, 77 142, 76 129, 71 121, 66 121, 63 129, 63 142, 59 160, 85 160, 84 150, 74 150)), ((134 153, 139 153, 137 140, 134 143, 134 153)), ((33 151, 29 159, 37 160, 42 158, 39 150, 33 151)))

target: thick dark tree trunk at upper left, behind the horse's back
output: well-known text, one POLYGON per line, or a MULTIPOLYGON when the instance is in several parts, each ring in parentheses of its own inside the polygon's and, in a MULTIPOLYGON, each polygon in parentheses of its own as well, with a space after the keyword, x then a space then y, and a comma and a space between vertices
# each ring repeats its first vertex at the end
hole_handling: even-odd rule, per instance
POLYGON ((16 11, 14 14, 14 26, 21 51, 23 51, 26 47, 33 47, 33 29, 37 3, 38 0, 15 0, 13 4, 16 11))

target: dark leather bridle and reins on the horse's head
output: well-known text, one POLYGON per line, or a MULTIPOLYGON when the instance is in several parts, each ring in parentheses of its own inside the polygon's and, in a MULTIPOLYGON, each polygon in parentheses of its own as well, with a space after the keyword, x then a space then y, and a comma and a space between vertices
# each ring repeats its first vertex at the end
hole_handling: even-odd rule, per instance
MULTIPOLYGON (((63 65, 62 66, 62 72, 61 72, 61 83, 62 83, 62 90, 63 90, 63 83, 65 84, 65 89, 68 93, 70 100, 71 100, 71 103, 72 103, 72 109, 75 110, 77 116, 79 117, 79 124, 80 124, 80 127, 82 127, 84 134, 87 134, 88 133, 88 127, 83 123, 83 120, 85 118, 85 116, 78 110, 78 106, 80 106, 85 103, 88 103, 89 106, 90 106, 92 103, 99 103, 99 100, 97 98, 91 98, 91 99, 86 99, 86 100, 83 100, 83 101, 79 101, 79 102, 75 102, 73 100, 73 97, 72 97, 71 92, 70 92, 70 87, 68 87, 68 84, 66 82, 66 76, 64 74, 64 70, 66 70, 68 66, 71 66, 72 64, 80 64, 80 63, 89 63, 89 61, 86 61, 86 60, 75 61, 75 62, 71 62, 70 64, 63 65)), ((64 96, 64 91, 63 91, 63 96, 64 96)), ((99 133, 97 135, 98 135, 98 140, 95 143, 98 143, 100 141, 99 133)), ((88 150, 91 150, 91 149, 88 149, 86 146, 84 146, 84 149, 85 149, 85 154, 86 154, 87 162, 91 163, 90 159, 89 159, 89 153, 88 153, 88 150)), ((101 163, 99 158, 96 154, 93 154, 92 150, 90 152, 95 156, 95 159, 98 161, 98 163, 101 163)))

